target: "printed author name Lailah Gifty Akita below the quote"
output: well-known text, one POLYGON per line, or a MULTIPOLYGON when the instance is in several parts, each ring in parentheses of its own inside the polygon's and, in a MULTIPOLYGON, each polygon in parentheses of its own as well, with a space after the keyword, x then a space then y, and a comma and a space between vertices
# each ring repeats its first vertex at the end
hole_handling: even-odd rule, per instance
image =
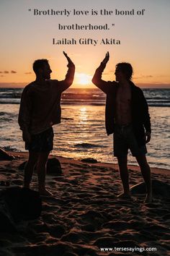
POLYGON ((53 45, 119 45, 121 42, 115 38, 102 38, 102 40, 97 40, 93 38, 79 38, 78 40, 75 38, 53 38, 53 45))

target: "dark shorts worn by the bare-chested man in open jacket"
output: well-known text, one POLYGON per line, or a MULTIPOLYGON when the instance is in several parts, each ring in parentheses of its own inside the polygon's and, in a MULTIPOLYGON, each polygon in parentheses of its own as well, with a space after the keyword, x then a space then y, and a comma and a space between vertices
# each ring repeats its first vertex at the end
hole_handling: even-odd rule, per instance
POLYGON ((114 132, 114 155, 117 157, 128 155, 129 149, 133 156, 145 155, 147 153, 146 145, 138 145, 131 124, 122 127, 116 125, 114 132))

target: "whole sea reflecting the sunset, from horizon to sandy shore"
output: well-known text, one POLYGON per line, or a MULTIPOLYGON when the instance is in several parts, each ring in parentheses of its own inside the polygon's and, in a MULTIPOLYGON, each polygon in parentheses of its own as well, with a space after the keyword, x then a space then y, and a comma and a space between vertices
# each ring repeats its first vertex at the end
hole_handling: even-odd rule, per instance
MULTIPOLYGON (((0 88, 0 147, 25 151, 22 132, 17 124, 22 88, 0 88)), ((170 90, 143 89, 151 115, 152 137, 148 143, 148 163, 152 167, 170 168, 170 90)), ((69 88, 62 95, 61 124, 53 127, 53 155, 68 158, 95 158, 117 163, 112 154, 112 135, 104 127, 105 95, 97 88, 69 88)), ((136 165, 129 154, 128 163, 136 165)))

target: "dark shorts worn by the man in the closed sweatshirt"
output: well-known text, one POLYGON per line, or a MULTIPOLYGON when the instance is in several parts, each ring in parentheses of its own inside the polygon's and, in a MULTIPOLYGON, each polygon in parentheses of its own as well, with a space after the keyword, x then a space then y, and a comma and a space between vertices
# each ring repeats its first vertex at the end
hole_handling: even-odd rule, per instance
POLYGON ((25 149, 32 152, 50 152, 53 150, 53 128, 46 129, 37 135, 31 135, 31 142, 25 144, 25 149))

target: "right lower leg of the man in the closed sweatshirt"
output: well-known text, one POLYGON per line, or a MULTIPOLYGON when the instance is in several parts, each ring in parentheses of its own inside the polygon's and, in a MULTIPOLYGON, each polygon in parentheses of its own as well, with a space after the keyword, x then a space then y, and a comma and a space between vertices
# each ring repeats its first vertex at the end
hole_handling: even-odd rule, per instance
POLYGON ((50 152, 39 153, 37 161, 37 178, 39 192, 41 195, 52 195, 47 189, 45 189, 46 163, 48 161, 49 153, 50 152))

